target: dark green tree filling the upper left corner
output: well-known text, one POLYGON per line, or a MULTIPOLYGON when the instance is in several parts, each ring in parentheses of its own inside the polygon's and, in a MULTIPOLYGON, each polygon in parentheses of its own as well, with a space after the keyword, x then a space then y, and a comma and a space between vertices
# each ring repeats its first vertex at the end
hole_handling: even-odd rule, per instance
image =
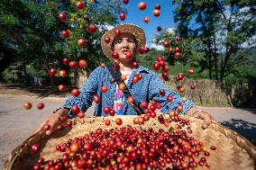
POLYGON ((22 63, 19 69, 26 77, 26 65, 36 61, 42 66, 47 54, 52 54, 48 49, 59 39, 58 21, 53 15, 58 12, 58 4, 4 0, 0 9, 1 72, 12 63, 22 63))

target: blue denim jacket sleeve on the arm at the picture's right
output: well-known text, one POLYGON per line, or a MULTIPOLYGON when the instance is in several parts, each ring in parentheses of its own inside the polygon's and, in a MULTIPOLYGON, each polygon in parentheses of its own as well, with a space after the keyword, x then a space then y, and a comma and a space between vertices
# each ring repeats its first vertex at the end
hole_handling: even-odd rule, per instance
POLYGON ((171 110, 177 109, 178 105, 183 106, 183 110, 180 113, 187 113, 187 111, 194 107, 195 104, 191 100, 187 100, 185 103, 182 102, 182 97, 178 92, 169 89, 167 85, 163 83, 159 76, 152 73, 150 84, 149 84, 149 97, 161 104, 160 111, 163 113, 169 113, 171 110), (165 95, 160 94, 160 90, 165 90, 165 95), (171 95, 173 100, 171 102, 167 101, 167 96, 171 95))

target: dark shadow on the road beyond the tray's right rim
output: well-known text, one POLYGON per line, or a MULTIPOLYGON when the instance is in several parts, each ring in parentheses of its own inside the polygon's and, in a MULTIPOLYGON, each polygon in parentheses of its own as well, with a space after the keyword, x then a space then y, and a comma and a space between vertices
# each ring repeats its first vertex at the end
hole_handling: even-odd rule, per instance
POLYGON ((224 121, 222 124, 232 130, 237 131, 256 146, 256 124, 236 119, 224 121))

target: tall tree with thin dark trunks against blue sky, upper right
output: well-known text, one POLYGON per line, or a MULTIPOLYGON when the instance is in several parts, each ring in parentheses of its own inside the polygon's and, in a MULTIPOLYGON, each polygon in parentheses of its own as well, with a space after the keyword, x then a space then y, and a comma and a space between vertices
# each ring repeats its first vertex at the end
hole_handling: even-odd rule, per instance
POLYGON ((173 0, 173 4, 177 6, 174 20, 178 33, 184 39, 202 41, 209 77, 223 82, 243 60, 235 54, 255 36, 255 2, 173 0))

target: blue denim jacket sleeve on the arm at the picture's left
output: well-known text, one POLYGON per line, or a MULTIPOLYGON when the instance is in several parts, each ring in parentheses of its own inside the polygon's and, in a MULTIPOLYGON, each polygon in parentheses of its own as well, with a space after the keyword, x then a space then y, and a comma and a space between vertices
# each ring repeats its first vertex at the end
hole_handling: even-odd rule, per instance
POLYGON ((81 111, 86 112, 92 105, 93 95, 97 93, 100 71, 101 67, 97 67, 87 78, 87 82, 80 88, 78 97, 69 97, 64 103, 64 107, 71 109, 74 105, 77 105, 81 111))

